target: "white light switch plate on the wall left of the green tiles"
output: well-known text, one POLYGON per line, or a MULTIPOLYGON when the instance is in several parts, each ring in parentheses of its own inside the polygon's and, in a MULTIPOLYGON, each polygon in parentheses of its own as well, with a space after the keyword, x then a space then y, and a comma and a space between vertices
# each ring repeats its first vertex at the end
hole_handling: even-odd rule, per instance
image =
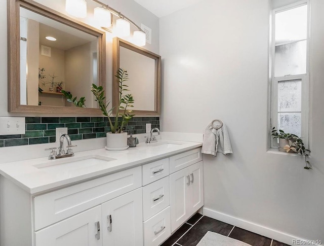
POLYGON ((25 117, 0 117, 0 135, 25 134, 25 117))

